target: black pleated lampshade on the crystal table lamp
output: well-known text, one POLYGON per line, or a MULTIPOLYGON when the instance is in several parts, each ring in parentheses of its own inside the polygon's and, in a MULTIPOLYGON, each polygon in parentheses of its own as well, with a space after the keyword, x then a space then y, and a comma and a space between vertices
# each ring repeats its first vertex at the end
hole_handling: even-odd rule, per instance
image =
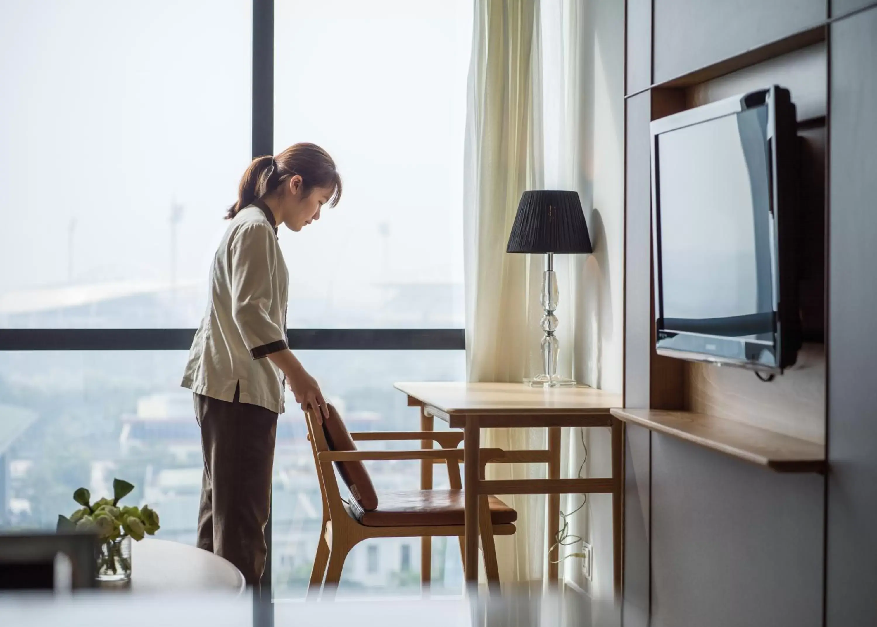
POLYGON ((506 253, 592 253, 578 192, 525 191, 506 253))

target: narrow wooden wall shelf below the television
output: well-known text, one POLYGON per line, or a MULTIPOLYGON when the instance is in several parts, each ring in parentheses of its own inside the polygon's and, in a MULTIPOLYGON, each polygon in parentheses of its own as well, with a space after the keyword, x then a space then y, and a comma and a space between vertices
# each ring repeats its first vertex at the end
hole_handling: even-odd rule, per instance
POLYGON ((624 422, 667 433, 778 473, 822 473, 825 447, 751 424, 674 410, 611 410, 624 422))

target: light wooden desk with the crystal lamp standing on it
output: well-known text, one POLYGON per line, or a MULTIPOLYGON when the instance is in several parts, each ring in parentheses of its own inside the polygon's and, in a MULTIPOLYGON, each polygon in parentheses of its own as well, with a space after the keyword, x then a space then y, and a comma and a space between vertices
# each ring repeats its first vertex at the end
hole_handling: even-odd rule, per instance
MULTIPOLYGON (((431 431, 433 418, 439 417, 451 427, 463 429, 466 535, 464 539, 464 570, 467 582, 478 580, 479 509, 487 511, 487 495, 546 494, 548 497, 548 532, 551 538, 560 529, 561 494, 612 495, 612 552, 616 595, 621 591, 621 528, 624 500, 623 455, 624 425, 610 415, 610 408, 619 407, 619 394, 588 387, 530 388, 523 383, 396 383, 396 389, 408 395, 410 406, 420 407, 421 431, 431 431), (509 427, 548 429, 548 479, 521 481, 488 481, 483 477, 479 452, 481 428, 509 427), (610 427, 612 430, 612 476, 602 479, 560 479, 560 428, 610 427), (481 472, 480 472, 481 471, 481 472)), ((430 441, 421 443, 431 448, 430 441)), ((454 478, 452 477, 452 488, 454 478)), ((457 480, 459 481, 459 479, 457 480)), ((432 488, 432 462, 421 464, 422 489, 432 488)), ((481 521, 483 522, 483 521, 481 521)), ((489 522, 489 518, 488 518, 489 522)), ((481 533, 489 532, 489 525, 481 533)), ((426 566, 425 581, 430 572, 430 538, 423 538, 421 559, 426 566)), ((552 539, 553 544, 553 539, 552 539)), ((484 559, 496 559, 485 554, 484 559)), ((558 577, 558 550, 549 555, 548 578, 558 577)))

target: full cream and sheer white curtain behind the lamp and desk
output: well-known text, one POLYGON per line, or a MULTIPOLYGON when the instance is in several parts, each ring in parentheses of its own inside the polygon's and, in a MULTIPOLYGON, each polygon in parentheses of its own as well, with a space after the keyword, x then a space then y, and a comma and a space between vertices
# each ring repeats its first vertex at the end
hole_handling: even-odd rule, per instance
MULTIPOLYGON (((524 190, 575 189, 578 4, 474 2, 464 184, 469 381, 523 381, 541 371, 538 291, 544 256, 508 254, 505 247, 524 190)), ((561 256, 555 270, 560 280, 558 371, 571 376, 574 267, 561 256)), ((546 446, 545 429, 485 430, 482 441, 504 449, 546 446)), ((544 477, 545 465, 491 465, 488 476, 544 477)), ((541 580, 550 544, 545 496, 506 495, 503 500, 517 509, 518 531, 496 538, 501 579, 541 580)))

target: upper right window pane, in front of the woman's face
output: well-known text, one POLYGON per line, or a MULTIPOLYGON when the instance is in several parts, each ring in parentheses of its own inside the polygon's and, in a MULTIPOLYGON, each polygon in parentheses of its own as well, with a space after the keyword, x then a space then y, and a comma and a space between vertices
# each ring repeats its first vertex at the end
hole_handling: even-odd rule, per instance
POLYGON ((472 0, 277 0, 275 151, 324 146, 345 183, 281 239, 290 326, 463 325, 471 29, 472 0))

